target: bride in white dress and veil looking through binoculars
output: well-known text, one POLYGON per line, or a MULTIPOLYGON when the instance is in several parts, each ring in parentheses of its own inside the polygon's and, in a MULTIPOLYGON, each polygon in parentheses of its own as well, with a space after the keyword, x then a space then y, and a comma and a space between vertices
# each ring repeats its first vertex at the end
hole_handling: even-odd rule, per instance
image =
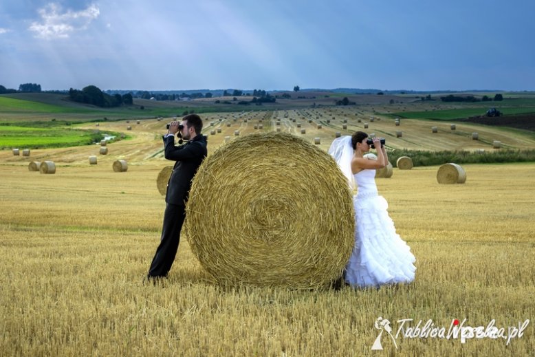
POLYGON ((353 196, 355 208, 355 246, 345 268, 345 281, 358 287, 408 283, 414 280, 415 257, 411 248, 395 232, 387 212, 388 204, 378 195, 375 170, 389 163, 388 154, 378 138, 368 144, 368 134, 357 131, 353 136, 334 140, 329 154, 349 180, 357 185, 353 196), (378 148, 377 160, 364 154, 378 148))

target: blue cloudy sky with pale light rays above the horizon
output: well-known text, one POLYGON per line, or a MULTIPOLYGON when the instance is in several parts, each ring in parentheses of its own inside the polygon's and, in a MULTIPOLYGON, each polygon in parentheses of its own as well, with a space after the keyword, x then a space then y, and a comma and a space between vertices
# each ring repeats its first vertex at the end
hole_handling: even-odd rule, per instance
POLYGON ((531 0, 0 1, 0 85, 535 90, 531 0))

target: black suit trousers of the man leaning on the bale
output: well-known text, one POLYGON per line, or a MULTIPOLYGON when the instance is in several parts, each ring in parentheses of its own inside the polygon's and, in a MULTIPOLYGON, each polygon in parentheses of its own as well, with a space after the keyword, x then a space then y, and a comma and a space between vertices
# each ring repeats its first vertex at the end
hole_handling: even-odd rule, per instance
POLYGON ((149 278, 166 277, 171 270, 177 255, 184 219, 186 219, 186 206, 166 204, 162 238, 149 268, 149 278))

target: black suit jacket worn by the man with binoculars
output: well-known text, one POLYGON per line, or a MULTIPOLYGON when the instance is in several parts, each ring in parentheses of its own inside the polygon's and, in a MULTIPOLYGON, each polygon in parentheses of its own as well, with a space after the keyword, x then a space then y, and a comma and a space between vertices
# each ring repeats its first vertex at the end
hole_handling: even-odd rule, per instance
POLYGON ((165 202, 186 206, 193 177, 208 153, 206 144, 206 136, 201 134, 179 147, 175 147, 174 136, 164 137, 165 158, 176 161, 167 182, 165 202))

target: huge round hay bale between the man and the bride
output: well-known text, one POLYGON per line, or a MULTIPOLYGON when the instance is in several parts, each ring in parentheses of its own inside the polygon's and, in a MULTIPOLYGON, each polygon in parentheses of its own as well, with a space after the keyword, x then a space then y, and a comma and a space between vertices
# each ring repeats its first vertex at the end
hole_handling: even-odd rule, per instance
POLYGON ((353 249, 347 179, 325 151, 287 133, 219 147, 186 210, 190 248, 221 283, 325 287, 353 249))

